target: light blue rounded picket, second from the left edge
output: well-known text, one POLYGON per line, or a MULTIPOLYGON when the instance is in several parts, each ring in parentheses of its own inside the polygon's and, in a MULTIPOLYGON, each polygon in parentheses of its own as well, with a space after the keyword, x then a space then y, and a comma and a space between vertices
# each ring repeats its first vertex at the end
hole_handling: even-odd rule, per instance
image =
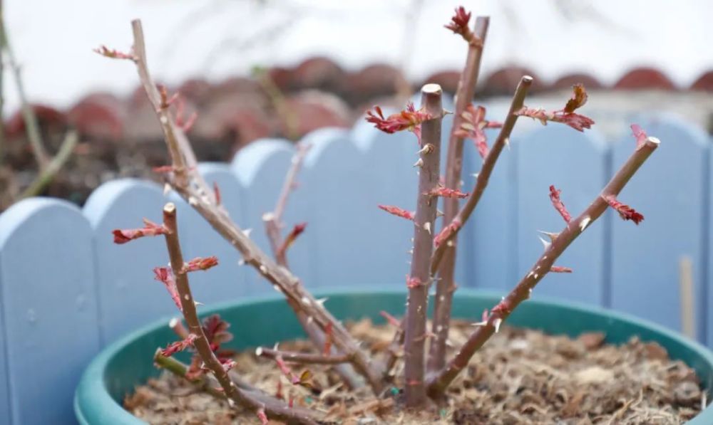
POLYGON ((103 344, 174 312, 165 288, 153 280, 153 268, 168 261, 163 238, 118 245, 112 237, 115 229, 143 227, 143 219, 160 224, 166 201, 154 182, 120 179, 102 184, 84 206, 94 234, 103 344))

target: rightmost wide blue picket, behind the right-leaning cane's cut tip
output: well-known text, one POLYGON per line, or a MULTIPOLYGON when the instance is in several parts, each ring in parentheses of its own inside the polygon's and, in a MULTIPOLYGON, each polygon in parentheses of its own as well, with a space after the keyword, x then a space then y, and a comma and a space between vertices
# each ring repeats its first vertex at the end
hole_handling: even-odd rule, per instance
MULTIPOLYGON (((670 114, 638 118, 635 122, 661 143, 619 196, 643 214, 644 221, 635 226, 614 211, 610 213, 612 307, 681 330, 677 283, 681 259, 690 258, 698 303, 697 331, 702 338, 707 311, 703 279, 709 139, 702 130, 670 114), (647 261, 642 267, 642 258, 656 261, 647 261)), ((612 169, 620 167, 635 149, 635 137, 629 130, 614 147, 612 169)))

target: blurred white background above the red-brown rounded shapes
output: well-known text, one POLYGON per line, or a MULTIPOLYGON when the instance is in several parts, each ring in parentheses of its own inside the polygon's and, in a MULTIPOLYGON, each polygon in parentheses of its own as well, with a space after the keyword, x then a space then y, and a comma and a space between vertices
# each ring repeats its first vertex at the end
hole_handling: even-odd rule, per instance
MULTIPOLYGON (((406 61, 419 79, 461 68, 466 46, 443 28, 458 4, 491 16, 486 74, 520 64, 545 80, 585 71, 613 83, 650 65, 685 87, 713 68, 713 0, 6 0, 4 9, 29 98, 66 107, 138 84, 132 64, 91 52, 128 51, 133 18, 143 20, 150 67, 166 83, 313 55, 349 70, 406 61)), ((8 113, 18 105, 11 80, 4 92, 8 113)))

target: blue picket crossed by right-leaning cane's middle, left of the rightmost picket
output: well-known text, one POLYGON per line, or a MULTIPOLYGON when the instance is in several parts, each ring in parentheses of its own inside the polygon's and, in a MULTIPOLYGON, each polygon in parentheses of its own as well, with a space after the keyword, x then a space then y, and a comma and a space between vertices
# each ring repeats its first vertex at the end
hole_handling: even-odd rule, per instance
MULTIPOLYGON (((513 143, 517 157, 518 278, 543 252, 538 231, 558 232, 566 225, 550 201, 550 185, 575 217, 607 182, 607 145, 595 130, 578 132, 552 122, 513 143)), ((535 293, 600 305, 605 295, 607 255, 605 219, 591 226, 558 259, 573 275, 551 273, 535 293)))

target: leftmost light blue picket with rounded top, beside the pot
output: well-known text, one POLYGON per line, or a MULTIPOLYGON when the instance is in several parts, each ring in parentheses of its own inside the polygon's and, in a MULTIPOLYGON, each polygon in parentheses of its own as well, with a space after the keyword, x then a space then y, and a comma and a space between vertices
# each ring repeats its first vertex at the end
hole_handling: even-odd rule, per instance
POLYGON ((92 230, 73 204, 31 198, 0 215, 0 374, 12 382, 11 423, 73 421, 67 389, 100 347, 94 270, 92 230))

